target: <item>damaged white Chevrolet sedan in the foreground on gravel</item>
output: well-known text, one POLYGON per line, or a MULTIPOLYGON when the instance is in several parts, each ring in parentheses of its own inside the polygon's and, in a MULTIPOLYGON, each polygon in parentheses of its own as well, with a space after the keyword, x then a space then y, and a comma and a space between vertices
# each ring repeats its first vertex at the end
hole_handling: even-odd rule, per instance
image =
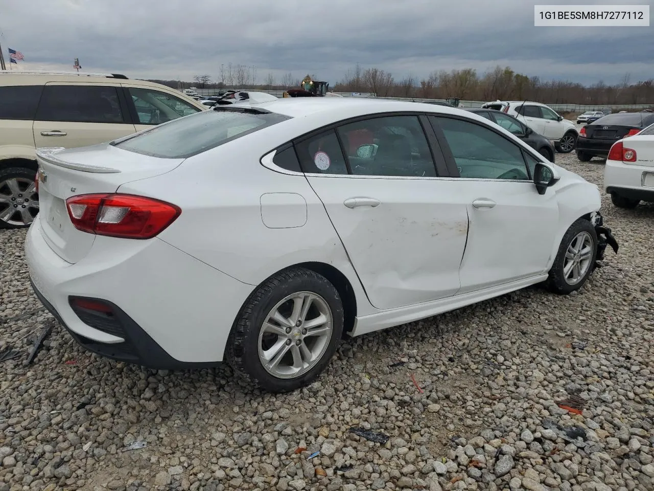
POLYGON ((362 335, 545 282, 604 249, 600 191, 489 120, 354 98, 216 106, 38 153, 35 292, 88 350, 309 384, 362 335))

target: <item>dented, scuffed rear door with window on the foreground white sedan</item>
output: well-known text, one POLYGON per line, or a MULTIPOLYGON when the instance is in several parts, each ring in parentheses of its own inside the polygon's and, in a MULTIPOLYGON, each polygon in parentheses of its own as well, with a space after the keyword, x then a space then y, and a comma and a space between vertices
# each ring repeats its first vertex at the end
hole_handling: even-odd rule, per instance
POLYGON ((373 306, 402 307, 458 291, 468 213, 456 183, 436 177, 418 117, 344 124, 296 149, 373 306), (372 143, 351 145, 361 134, 372 143))

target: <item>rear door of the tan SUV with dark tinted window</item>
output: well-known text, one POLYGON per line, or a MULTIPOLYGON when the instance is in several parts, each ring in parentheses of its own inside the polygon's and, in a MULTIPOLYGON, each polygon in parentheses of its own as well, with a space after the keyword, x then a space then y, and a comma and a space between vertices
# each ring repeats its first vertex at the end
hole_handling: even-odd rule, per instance
POLYGON ((84 147, 134 133, 120 84, 48 82, 33 124, 39 147, 84 147))

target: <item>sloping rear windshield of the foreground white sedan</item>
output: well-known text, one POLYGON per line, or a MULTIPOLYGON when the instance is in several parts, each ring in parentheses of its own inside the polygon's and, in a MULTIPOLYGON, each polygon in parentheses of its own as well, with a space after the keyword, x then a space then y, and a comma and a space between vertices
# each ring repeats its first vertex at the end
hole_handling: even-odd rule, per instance
POLYGON ((290 117, 243 108, 209 109, 112 144, 143 155, 187 158, 287 119, 290 117))

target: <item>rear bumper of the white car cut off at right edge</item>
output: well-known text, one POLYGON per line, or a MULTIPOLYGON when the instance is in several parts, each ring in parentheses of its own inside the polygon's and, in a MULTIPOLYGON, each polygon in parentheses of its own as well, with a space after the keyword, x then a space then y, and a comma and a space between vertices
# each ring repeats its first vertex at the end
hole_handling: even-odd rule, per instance
POLYGON ((654 201, 654 166, 625 164, 607 160, 604 167, 604 191, 617 192, 625 198, 654 201), (650 177, 651 176, 651 177, 650 177))

